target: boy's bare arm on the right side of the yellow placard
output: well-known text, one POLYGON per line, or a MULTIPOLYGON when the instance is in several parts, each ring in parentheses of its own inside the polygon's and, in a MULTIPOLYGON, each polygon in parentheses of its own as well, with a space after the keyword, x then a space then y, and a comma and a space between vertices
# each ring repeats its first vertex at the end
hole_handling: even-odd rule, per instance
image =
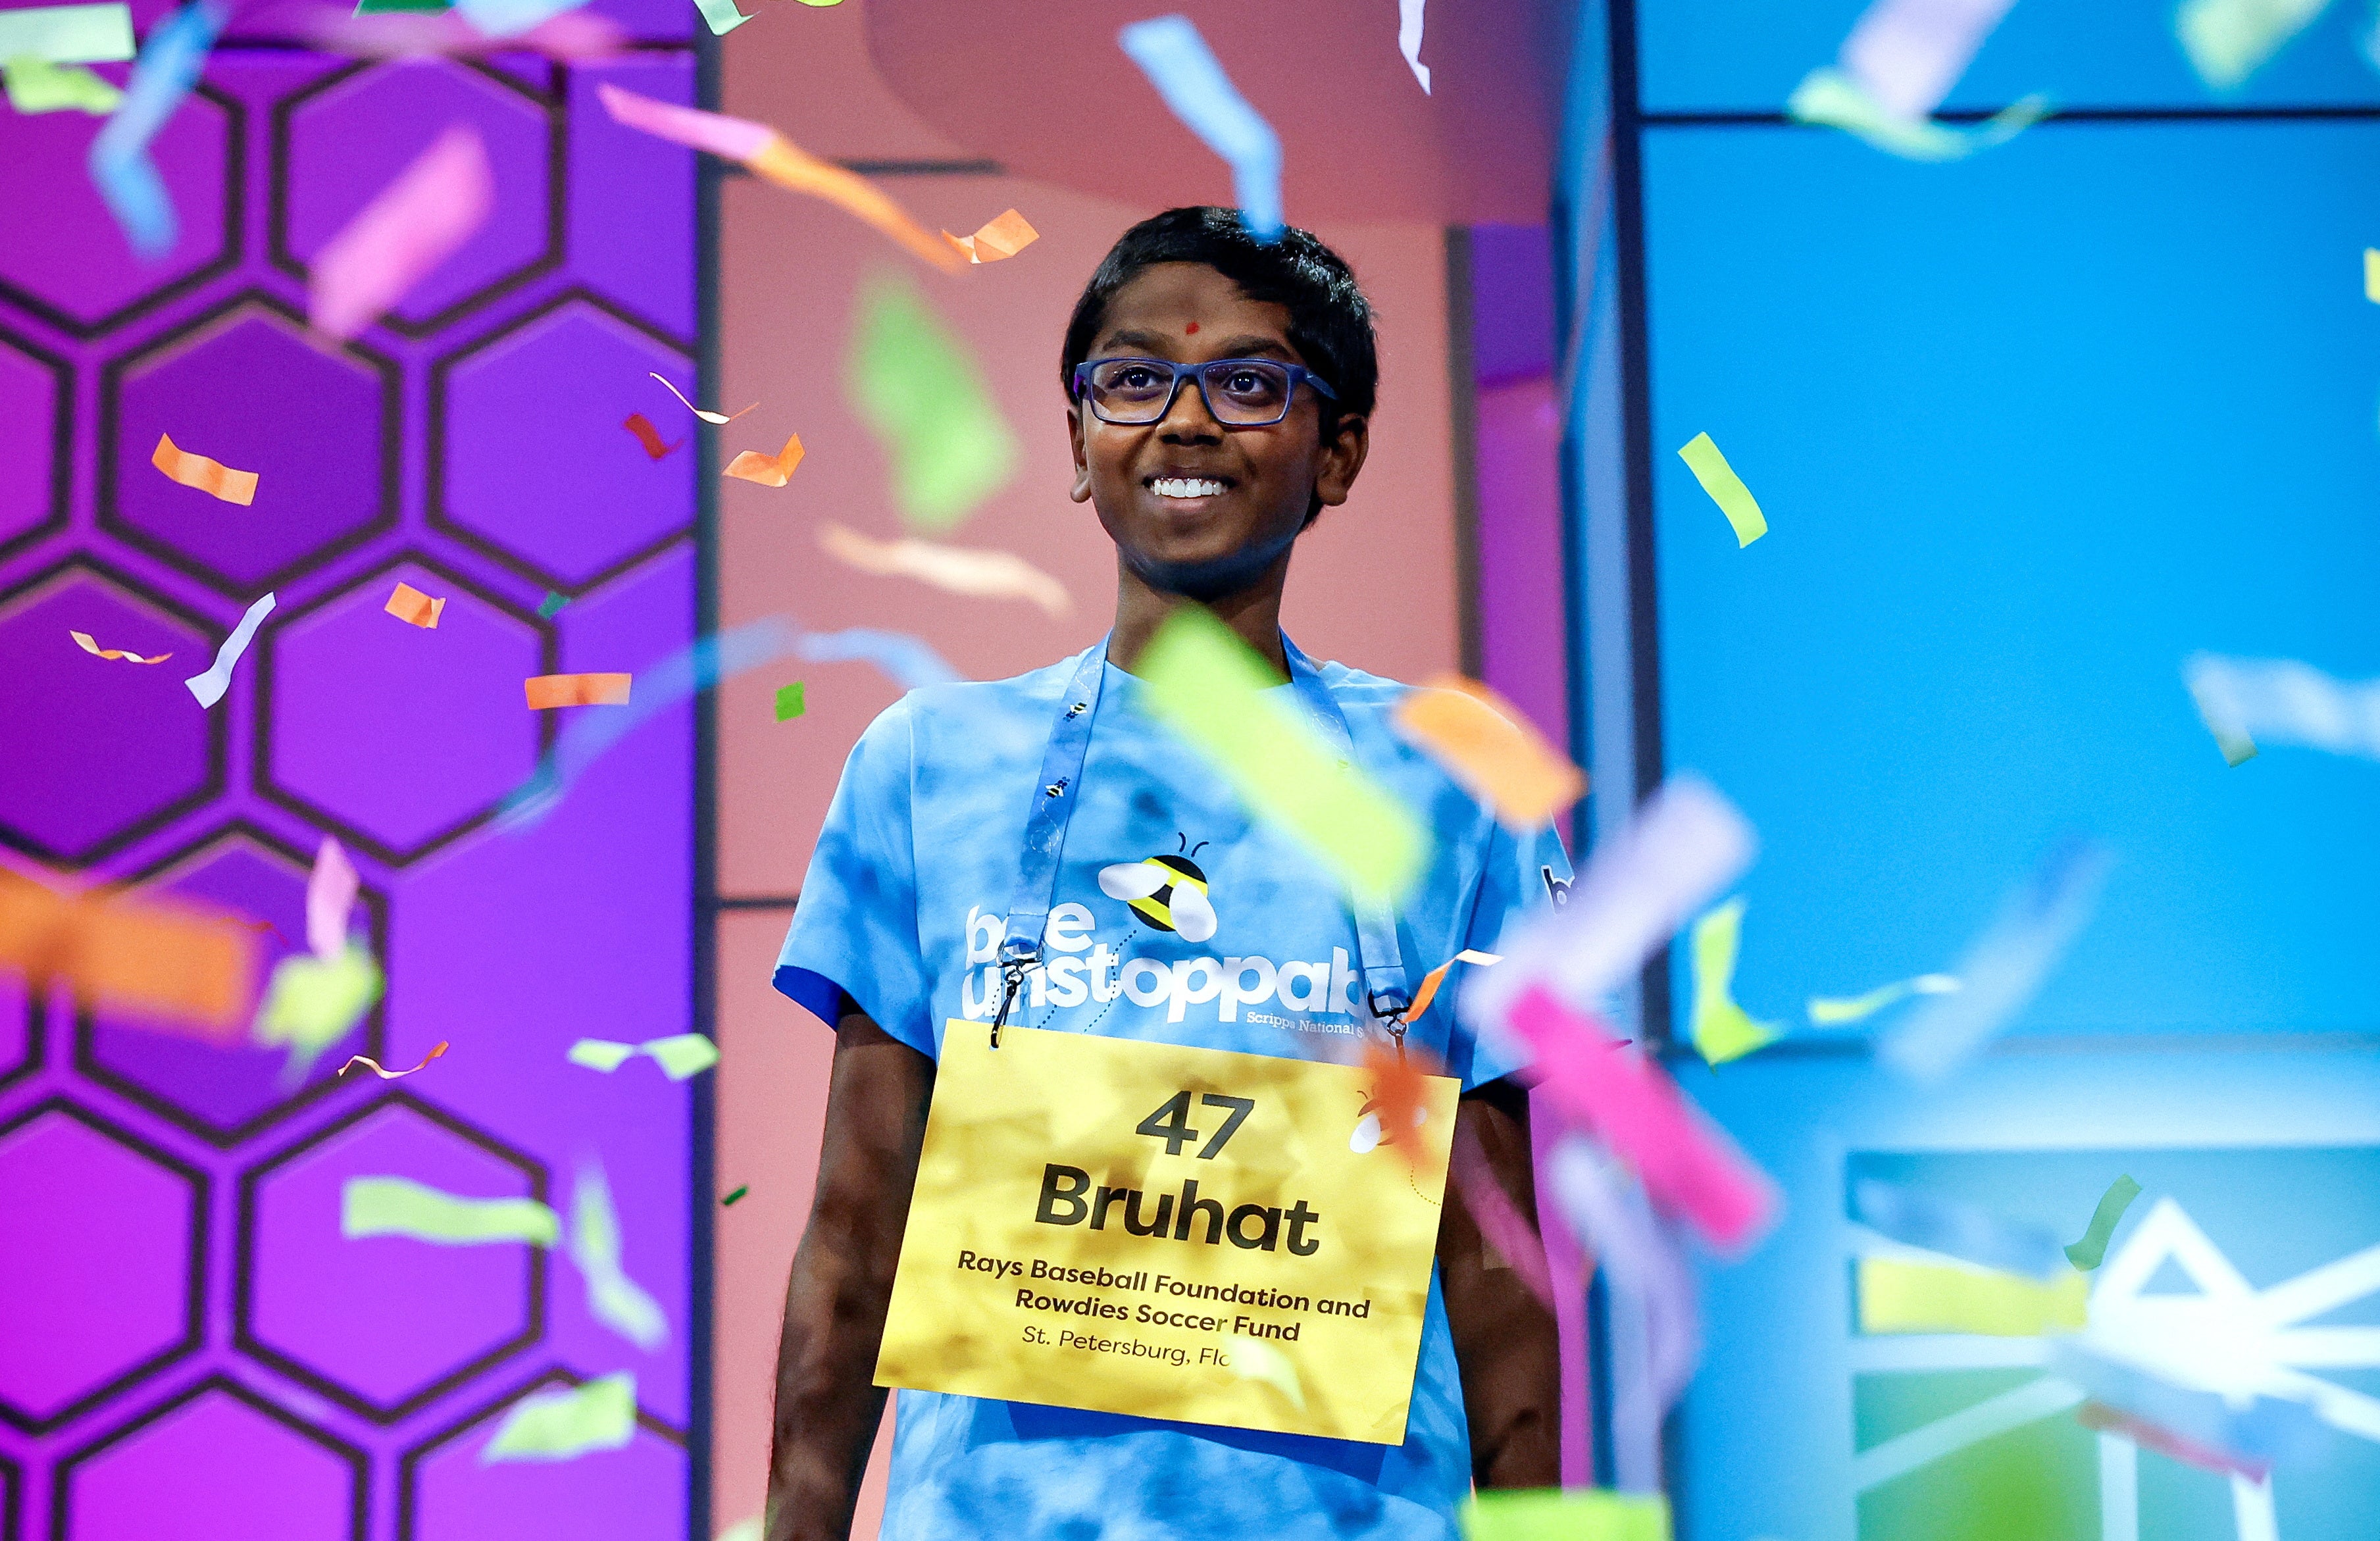
MULTIPOLYGON (((1478 1136, 1497 1186, 1535 1224, 1537 1179, 1528 1143, 1528 1093, 1488 1081, 1457 1108, 1457 1129, 1478 1136)), ((1454 1329, 1471 1422, 1471 1481, 1483 1489, 1549 1489, 1561 1481, 1561 1370, 1554 1312, 1511 1267, 1490 1267, 1478 1222, 1447 1184, 1438 1227, 1438 1279, 1454 1329)))

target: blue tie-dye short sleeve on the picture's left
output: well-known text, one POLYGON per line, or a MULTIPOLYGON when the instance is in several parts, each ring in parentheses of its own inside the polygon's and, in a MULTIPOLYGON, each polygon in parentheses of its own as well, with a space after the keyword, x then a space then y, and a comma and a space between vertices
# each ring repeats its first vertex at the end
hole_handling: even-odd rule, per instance
POLYGON ((916 941, 912 767, 902 700, 869 724, 843 765, 776 957, 776 988, 828 1024, 840 996, 850 996, 881 1029, 933 1055, 931 986, 916 941))

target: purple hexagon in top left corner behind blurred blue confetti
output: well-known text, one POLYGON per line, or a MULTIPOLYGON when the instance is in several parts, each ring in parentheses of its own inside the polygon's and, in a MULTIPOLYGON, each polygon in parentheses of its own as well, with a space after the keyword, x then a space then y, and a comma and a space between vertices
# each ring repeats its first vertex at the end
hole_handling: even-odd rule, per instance
POLYGON ((233 112, 224 102, 193 95, 150 148, 181 219, 174 250, 155 262, 133 255, 90 186, 98 131, 100 119, 83 112, 12 112, 7 155, 0 155, 0 210, 12 212, 10 238, 0 241, 0 295, 71 331, 98 329, 238 245, 226 229, 236 207, 224 183, 233 136, 233 112), (24 224, 29 210, 40 210, 40 231, 24 224), (29 238, 36 233, 45 238, 29 238))

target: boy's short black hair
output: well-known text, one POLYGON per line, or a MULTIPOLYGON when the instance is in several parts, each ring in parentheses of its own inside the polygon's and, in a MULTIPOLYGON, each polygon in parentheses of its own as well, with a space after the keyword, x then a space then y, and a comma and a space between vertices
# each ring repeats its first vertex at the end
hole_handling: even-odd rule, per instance
POLYGON ((1380 388, 1380 350, 1371 336, 1371 300, 1357 288, 1347 262, 1311 231, 1288 226, 1278 241, 1257 241, 1240 224, 1240 210, 1197 205, 1166 210, 1123 231, 1100 272, 1090 276, 1083 298, 1066 322, 1066 357, 1059 360, 1059 386, 1073 400, 1073 367, 1090 357, 1090 345, 1107 326, 1107 305, 1140 269, 1159 262, 1202 262, 1259 305, 1283 305, 1290 312, 1290 345, 1307 369, 1338 391, 1338 403, 1316 395, 1323 407, 1323 438, 1338 426, 1330 417, 1371 417, 1380 388))

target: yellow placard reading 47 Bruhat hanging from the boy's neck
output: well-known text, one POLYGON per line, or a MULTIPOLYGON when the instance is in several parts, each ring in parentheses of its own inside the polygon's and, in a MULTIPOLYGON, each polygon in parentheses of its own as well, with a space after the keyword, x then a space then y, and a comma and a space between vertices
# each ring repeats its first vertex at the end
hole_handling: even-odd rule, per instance
POLYGON ((1457 1091, 950 1022, 876 1384, 1402 1443, 1457 1091))

